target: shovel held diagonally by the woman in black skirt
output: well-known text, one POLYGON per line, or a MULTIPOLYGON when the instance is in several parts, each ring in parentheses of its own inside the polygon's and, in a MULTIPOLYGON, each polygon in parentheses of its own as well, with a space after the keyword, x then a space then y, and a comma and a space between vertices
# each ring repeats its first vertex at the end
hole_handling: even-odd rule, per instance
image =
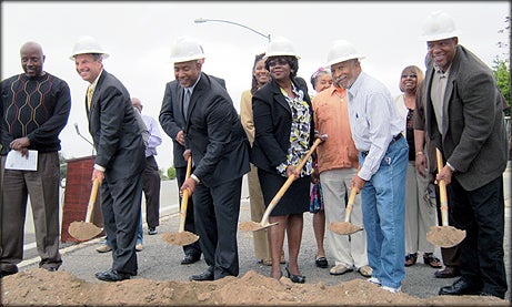
MULTIPOLYGON (((304 167, 305 162, 308 162, 308 158, 310 158, 311 154, 314 152, 314 150, 318 147, 318 145, 320 143, 322 143, 321 139, 317 139, 317 141, 314 141, 313 145, 308 151, 304 158, 295 167, 295 170, 298 172, 300 172, 302 170, 302 167, 304 167)), ((295 176, 289 176, 288 177, 288 180, 284 182, 284 184, 278 191, 278 194, 275 194, 275 196, 272 198, 272 201, 270 201, 270 204, 267 207, 265 212, 263 213, 263 217, 261 218, 260 223, 257 223, 257 222, 253 222, 253 221, 240 223, 240 225, 239 225, 240 231, 243 231, 243 232, 257 232, 257 231, 268 228, 270 226, 278 225, 278 223, 269 224, 270 213, 273 211, 275 205, 278 205, 279 201, 281 201, 281 197, 284 195, 284 193, 287 192, 287 190, 290 187, 290 185, 293 183, 294 180, 295 180, 295 176)))

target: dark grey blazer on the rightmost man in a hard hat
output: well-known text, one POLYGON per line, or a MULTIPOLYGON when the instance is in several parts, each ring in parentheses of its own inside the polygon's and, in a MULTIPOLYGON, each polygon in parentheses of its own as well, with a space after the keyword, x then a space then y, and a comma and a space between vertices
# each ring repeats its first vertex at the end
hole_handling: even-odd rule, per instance
POLYGON ((444 92, 440 134, 431 100, 435 71, 433 61, 426 62, 426 133, 455 167, 453 176, 462 187, 468 191, 481 187, 503 174, 508 158, 503 103, 492 71, 476 55, 458 45, 444 92))

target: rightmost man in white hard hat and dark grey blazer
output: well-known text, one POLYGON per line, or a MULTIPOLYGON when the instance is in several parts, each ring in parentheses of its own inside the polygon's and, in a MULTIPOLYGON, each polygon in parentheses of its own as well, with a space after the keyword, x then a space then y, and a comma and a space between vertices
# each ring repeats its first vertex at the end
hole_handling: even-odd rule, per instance
POLYGON ((459 44, 445 12, 432 12, 423 27, 426 42, 425 131, 445 165, 453 226, 466 232, 460 243, 461 277, 440 295, 504 298, 503 263, 506 134, 502 99, 492 71, 459 44))

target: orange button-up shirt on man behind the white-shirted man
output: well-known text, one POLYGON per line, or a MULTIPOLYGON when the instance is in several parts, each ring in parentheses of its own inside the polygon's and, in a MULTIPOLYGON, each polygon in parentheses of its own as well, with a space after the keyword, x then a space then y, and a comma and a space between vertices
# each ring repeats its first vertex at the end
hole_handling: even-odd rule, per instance
POLYGON ((317 147, 320 173, 335 168, 357 168, 358 150, 350 131, 349 110, 344 89, 331 88, 318 93, 312 101, 314 127, 327 134, 317 147))

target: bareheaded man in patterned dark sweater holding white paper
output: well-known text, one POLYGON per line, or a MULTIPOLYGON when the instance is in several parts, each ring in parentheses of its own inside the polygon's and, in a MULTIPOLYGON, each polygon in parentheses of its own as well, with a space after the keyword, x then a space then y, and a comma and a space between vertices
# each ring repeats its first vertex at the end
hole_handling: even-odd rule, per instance
POLYGON ((59 253, 59 134, 68 123, 71 95, 66 81, 43 70, 44 58, 39 43, 23 43, 20 63, 24 72, 0 83, 0 278, 18 273, 18 264, 23 259, 29 196, 41 258, 39 267, 56 272, 62 265, 59 253), (36 156, 37 170, 8 167, 9 155, 36 156))

